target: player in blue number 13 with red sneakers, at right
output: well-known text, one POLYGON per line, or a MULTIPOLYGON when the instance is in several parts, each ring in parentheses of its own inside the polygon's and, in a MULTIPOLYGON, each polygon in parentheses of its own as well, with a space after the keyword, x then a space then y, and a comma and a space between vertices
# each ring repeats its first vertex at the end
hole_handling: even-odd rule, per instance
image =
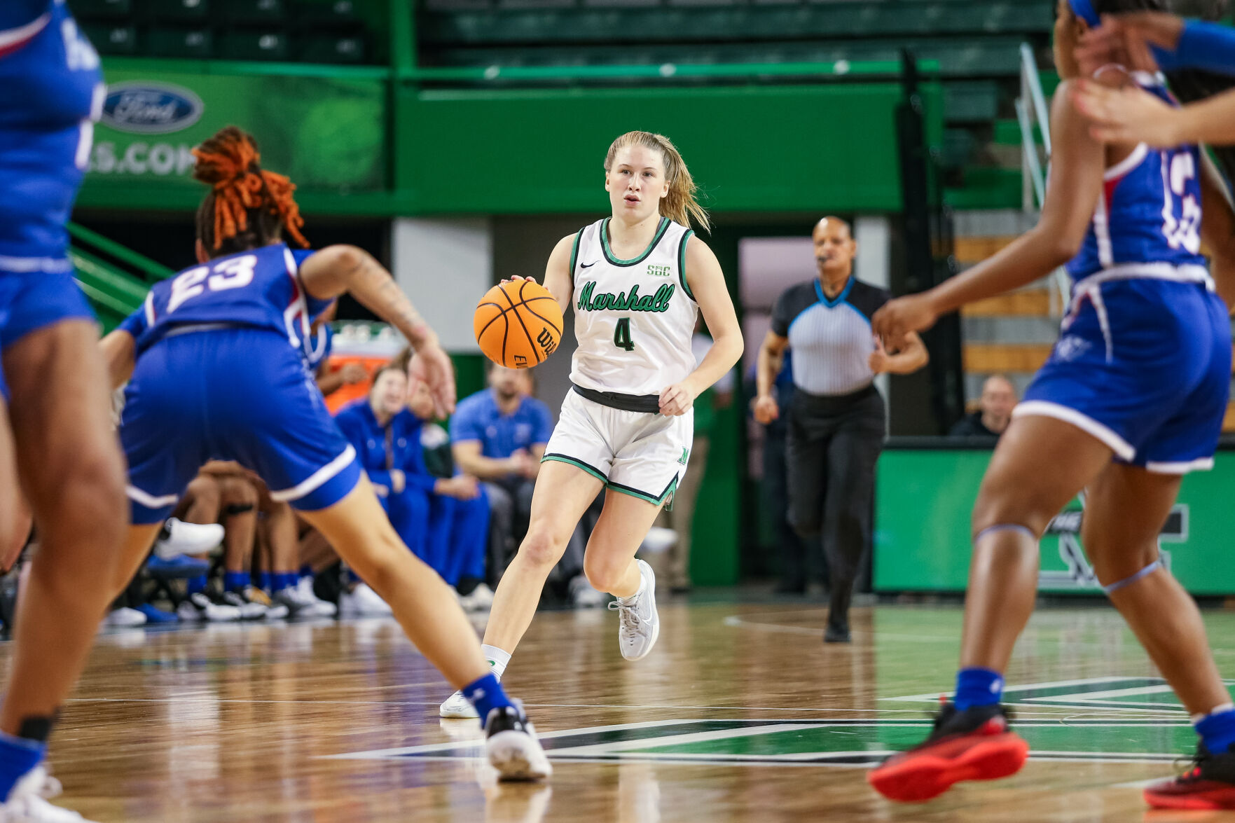
MULTIPOLYGON (((958 781, 1005 777, 1024 765, 1029 745, 1009 730, 999 704, 1003 677, 1034 609, 1037 541, 1086 489, 1082 539, 1098 581, 1200 736, 1194 767, 1149 786, 1145 797, 1160 808, 1235 808, 1235 707, 1197 604, 1158 557, 1158 531, 1181 479, 1213 467, 1226 410, 1230 318, 1215 290, 1230 298, 1235 288, 1235 215, 1197 146, 1100 142, 1070 103, 1081 77, 1074 48, 1098 25, 1095 12, 1153 5, 1060 4, 1055 61, 1065 83, 1051 112, 1055 154, 1037 226, 874 316, 876 331, 894 344, 1056 266, 1066 264, 1073 281, 1060 340, 1013 413, 974 504, 953 702, 926 741, 869 775, 892 800, 929 800, 958 781)), ((1108 65, 1097 77, 1173 100, 1153 74, 1108 65)))

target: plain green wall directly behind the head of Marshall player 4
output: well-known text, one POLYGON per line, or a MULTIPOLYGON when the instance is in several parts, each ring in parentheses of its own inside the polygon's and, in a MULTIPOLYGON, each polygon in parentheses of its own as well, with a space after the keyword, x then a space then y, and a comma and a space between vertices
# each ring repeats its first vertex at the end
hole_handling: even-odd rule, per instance
POLYGON ((895 211, 900 96, 895 83, 400 89, 394 180, 416 211, 594 211, 605 150, 641 129, 674 141, 719 211, 895 211))

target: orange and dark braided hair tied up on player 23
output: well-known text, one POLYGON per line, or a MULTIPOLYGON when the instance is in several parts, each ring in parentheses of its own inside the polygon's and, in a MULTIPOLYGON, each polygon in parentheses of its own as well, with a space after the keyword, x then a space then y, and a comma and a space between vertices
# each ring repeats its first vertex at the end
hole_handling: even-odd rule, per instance
POLYGON ((198 208, 198 240, 211 257, 278 242, 283 230, 300 246, 304 219, 291 198, 295 184, 259 166, 257 141, 236 126, 220 129, 193 150, 193 178, 210 187, 198 208))

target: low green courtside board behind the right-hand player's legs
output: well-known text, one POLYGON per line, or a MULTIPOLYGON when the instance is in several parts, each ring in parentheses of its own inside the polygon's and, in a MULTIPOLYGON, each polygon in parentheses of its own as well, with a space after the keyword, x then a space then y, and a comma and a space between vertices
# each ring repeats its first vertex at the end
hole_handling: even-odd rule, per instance
MULTIPOLYGON (((962 592, 969 571, 969 513, 990 452, 889 449, 879 457, 876 492, 874 588, 881 592, 962 592)), ((1214 470, 1183 481, 1162 531, 1171 572, 1193 594, 1235 594, 1230 551, 1235 451, 1219 452, 1214 470)), ((1040 588, 1100 594, 1088 576, 1073 502, 1041 541, 1040 588)))

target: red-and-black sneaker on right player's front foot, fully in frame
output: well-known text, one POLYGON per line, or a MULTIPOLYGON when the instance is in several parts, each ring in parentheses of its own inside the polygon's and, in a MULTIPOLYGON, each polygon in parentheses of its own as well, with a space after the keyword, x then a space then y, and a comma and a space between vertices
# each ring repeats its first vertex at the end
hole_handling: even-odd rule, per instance
POLYGON ((926 740, 871 770, 867 782, 888 800, 920 803, 962 780, 995 780, 1020 771, 1029 744, 1008 728, 1002 706, 958 712, 945 703, 926 740))

